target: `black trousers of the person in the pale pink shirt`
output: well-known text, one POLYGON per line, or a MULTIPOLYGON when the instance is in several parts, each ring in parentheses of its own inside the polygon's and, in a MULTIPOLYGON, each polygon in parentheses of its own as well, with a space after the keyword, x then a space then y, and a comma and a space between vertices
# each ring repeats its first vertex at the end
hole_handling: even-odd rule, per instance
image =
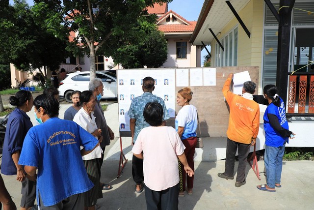
POLYGON ((178 210, 179 183, 165 190, 151 190, 145 185, 147 210, 178 210))

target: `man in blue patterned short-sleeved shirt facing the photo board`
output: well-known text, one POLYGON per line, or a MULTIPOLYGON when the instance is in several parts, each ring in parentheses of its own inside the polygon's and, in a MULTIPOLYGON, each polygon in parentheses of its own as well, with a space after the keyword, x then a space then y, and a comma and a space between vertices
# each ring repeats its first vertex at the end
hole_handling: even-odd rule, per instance
MULTIPOLYGON (((134 145, 139 132, 144 128, 148 127, 149 124, 145 121, 143 116, 144 107, 148 102, 157 101, 163 108, 163 121, 162 125, 166 124, 166 120, 169 119, 168 110, 162 98, 153 95, 155 89, 155 80, 152 77, 145 77, 143 79, 142 89, 144 93, 141 96, 134 98, 131 102, 129 109, 130 117, 130 129, 132 135, 132 144, 134 145)), ((143 159, 139 159, 133 155, 132 157, 132 176, 136 182, 136 192, 143 191, 143 159)))

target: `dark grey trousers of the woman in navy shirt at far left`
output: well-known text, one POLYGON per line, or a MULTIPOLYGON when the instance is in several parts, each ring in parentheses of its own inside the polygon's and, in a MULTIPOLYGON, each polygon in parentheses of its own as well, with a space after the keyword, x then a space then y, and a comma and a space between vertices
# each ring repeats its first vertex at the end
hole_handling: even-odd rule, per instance
POLYGON ((36 200, 36 181, 31 181, 25 178, 25 180, 22 181, 21 193, 21 207, 27 209, 34 206, 36 200))

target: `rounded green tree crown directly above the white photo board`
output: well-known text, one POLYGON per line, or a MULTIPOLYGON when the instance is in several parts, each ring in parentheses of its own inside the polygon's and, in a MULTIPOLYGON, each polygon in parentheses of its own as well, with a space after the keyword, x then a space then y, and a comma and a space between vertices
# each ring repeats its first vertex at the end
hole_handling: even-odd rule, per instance
POLYGON ((111 47, 116 50, 105 54, 111 53, 114 62, 125 68, 160 67, 167 60, 168 49, 164 34, 157 30, 156 20, 155 15, 139 18, 130 36, 121 36, 123 44, 111 47))

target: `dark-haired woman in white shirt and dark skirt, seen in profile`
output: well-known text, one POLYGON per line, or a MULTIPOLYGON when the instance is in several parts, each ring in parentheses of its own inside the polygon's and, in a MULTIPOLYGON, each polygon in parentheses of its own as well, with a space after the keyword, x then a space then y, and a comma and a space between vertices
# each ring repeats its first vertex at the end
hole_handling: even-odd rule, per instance
MULTIPOLYGON (((95 96, 89 90, 83 91, 79 96, 79 103, 82 108, 74 116, 73 121, 79 126, 91 133, 95 138, 102 138, 101 129, 97 128, 94 110, 96 105, 95 96)), ((103 192, 100 185, 100 158, 102 157, 102 148, 98 146, 95 150, 82 156, 88 178, 94 183, 94 187, 84 194, 85 210, 95 210, 97 199, 103 198, 103 192)))

